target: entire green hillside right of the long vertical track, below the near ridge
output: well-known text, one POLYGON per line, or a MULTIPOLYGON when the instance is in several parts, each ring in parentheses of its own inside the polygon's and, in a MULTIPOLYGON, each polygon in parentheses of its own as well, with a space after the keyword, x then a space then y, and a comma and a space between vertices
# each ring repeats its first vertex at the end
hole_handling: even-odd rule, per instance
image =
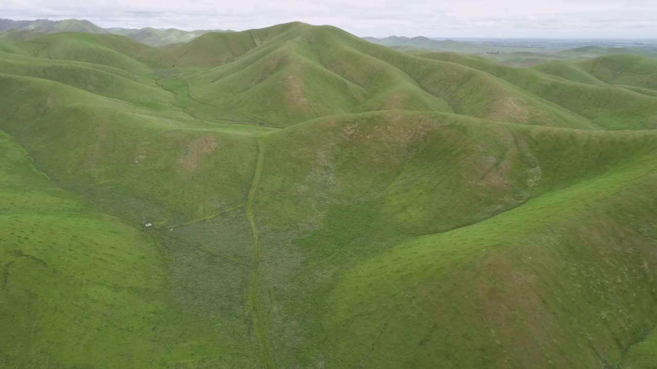
POLYGON ((294 357, 279 365, 300 360, 290 341, 332 368, 618 362, 655 318, 654 139, 402 112, 265 136, 261 300, 273 352, 294 357))

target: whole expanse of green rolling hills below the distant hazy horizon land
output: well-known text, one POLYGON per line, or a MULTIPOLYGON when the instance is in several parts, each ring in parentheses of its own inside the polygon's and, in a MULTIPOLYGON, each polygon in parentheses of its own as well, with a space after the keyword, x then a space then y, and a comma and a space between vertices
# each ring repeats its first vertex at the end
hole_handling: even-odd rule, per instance
POLYGON ((653 368, 656 68, 0 38, 0 367, 653 368))

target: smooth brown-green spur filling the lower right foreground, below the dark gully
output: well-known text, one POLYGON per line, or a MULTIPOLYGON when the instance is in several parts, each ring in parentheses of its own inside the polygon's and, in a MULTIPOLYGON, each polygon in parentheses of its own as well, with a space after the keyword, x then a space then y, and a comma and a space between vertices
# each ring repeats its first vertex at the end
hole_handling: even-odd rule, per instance
POLYGON ((648 199, 654 167, 648 163, 654 154, 639 162, 474 225, 438 234, 426 229, 417 234, 429 234, 399 240, 357 265, 328 300, 338 307, 328 311, 325 323, 334 327, 327 334, 336 345, 333 360, 353 367, 367 358, 371 368, 593 368, 599 356, 618 361, 631 342, 623 328, 648 324, 643 314, 652 311, 648 301, 626 301, 635 293, 654 293, 644 284, 654 278, 646 277, 643 265, 654 247, 643 238, 655 235, 650 221, 604 230, 617 214, 634 213, 645 201, 652 205, 643 217, 635 215, 653 216, 648 199), (613 210, 604 201, 629 194, 637 196, 635 202, 624 200, 613 210), (623 244, 635 250, 628 253, 623 244), (606 264, 612 259, 613 265, 606 264))

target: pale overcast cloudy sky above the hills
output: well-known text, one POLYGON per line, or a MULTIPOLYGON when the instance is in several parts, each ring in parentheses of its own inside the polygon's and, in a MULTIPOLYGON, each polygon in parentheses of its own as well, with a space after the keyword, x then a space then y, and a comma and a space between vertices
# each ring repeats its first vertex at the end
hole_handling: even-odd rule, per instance
POLYGON ((657 39, 657 0, 0 0, 0 18, 184 30, 300 20, 359 36, 657 39))

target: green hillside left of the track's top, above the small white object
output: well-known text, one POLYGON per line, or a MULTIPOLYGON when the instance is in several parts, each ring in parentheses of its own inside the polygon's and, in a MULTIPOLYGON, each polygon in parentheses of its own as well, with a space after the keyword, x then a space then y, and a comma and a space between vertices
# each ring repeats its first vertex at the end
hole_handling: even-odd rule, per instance
POLYGON ((149 112, 45 79, 0 80, 18 102, 0 103, 3 128, 26 140, 35 158, 71 186, 111 188, 112 196, 133 198, 133 209, 139 209, 139 202, 154 202, 164 219, 233 204, 246 192, 251 155, 243 151, 253 142, 240 133, 250 130, 215 128, 175 110, 149 112), (198 129, 215 132, 214 137, 198 137, 198 129), (79 144, 89 140, 95 143, 79 144), (217 152, 223 145, 235 150, 217 152), (71 150, 53 156, 56 147, 71 150))

